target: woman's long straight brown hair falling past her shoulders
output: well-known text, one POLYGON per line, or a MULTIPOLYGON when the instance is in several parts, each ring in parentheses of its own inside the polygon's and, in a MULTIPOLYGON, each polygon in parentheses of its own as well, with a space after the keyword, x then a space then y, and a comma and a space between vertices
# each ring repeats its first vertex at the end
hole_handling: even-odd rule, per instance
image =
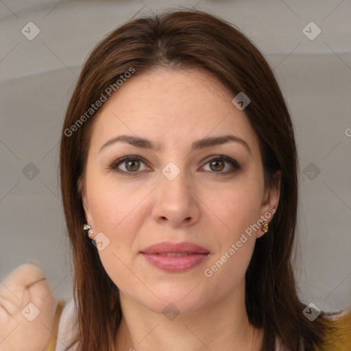
POLYGON ((314 350, 332 326, 324 312, 310 322, 302 313, 306 304, 298 298, 295 260, 291 263, 298 210, 298 159, 285 100, 256 46, 234 25, 198 10, 143 16, 108 34, 86 60, 67 108, 60 145, 60 181, 75 265, 79 350, 113 349, 121 320, 119 291, 101 265, 96 247, 82 233, 82 189, 96 114, 87 117, 86 111, 131 67, 135 76, 158 66, 202 67, 214 73, 233 97, 243 92, 250 98, 245 113, 260 141, 265 184, 277 186, 274 174, 278 170, 282 180, 280 203, 269 232, 256 240, 245 274, 247 315, 251 324, 265 330, 263 350, 275 350, 276 337, 291 351, 299 351, 301 341, 304 350, 314 350), (73 130, 72 125, 84 114, 84 123, 68 136, 67 130, 73 130))

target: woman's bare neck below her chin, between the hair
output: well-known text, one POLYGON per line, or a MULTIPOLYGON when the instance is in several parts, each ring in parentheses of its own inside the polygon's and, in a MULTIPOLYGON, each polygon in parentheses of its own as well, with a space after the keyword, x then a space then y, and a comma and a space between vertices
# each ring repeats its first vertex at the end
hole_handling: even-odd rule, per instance
POLYGON ((173 319, 121 293, 117 351, 261 351, 263 329, 254 328, 247 318, 244 291, 173 319))

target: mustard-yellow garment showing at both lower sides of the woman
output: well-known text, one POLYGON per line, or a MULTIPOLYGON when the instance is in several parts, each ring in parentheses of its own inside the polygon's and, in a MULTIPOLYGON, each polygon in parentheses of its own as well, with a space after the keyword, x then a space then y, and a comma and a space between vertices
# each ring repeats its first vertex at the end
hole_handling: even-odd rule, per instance
MULTIPOLYGON (((58 336, 58 324, 66 302, 60 300, 53 318, 52 334, 44 351, 55 351, 58 336)), ((351 312, 333 321, 337 328, 334 335, 326 335, 323 346, 315 347, 315 351, 351 351, 351 312)))

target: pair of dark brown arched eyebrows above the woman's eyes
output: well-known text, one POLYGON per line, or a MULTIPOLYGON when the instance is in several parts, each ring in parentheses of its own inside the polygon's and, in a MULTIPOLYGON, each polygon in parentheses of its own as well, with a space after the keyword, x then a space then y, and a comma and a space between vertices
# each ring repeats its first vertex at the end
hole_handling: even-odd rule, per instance
MULTIPOLYGON (((123 134, 123 135, 115 136, 114 138, 111 138, 110 140, 108 140, 106 143, 104 143, 104 145, 101 146, 99 152, 101 152, 102 149, 105 149, 106 147, 118 142, 128 143, 135 147, 141 147, 143 149, 152 149, 155 151, 160 151, 162 149, 162 147, 159 144, 155 144, 153 141, 147 138, 142 138, 141 136, 123 134)), ((239 136, 234 136, 231 134, 223 135, 223 136, 208 136, 206 138, 202 138, 197 141, 194 141, 193 144, 191 145, 191 151, 194 151, 195 149, 204 149, 206 147, 215 146, 215 145, 222 145, 230 142, 240 143, 245 147, 245 149, 247 149, 250 155, 252 155, 251 149, 249 145, 247 145, 246 141, 239 138, 239 136)))

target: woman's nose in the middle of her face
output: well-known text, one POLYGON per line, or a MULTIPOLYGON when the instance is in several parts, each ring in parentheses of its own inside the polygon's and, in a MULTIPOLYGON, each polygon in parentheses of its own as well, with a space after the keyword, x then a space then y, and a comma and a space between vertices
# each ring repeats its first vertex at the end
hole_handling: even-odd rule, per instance
POLYGON ((160 184, 154 191, 154 206, 152 216, 158 223, 169 223, 172 228, 192 226, 200 217, 201 203, 191 186, 191 180, 186 171, 169 180, 167 176, 160 176, 160 184))

